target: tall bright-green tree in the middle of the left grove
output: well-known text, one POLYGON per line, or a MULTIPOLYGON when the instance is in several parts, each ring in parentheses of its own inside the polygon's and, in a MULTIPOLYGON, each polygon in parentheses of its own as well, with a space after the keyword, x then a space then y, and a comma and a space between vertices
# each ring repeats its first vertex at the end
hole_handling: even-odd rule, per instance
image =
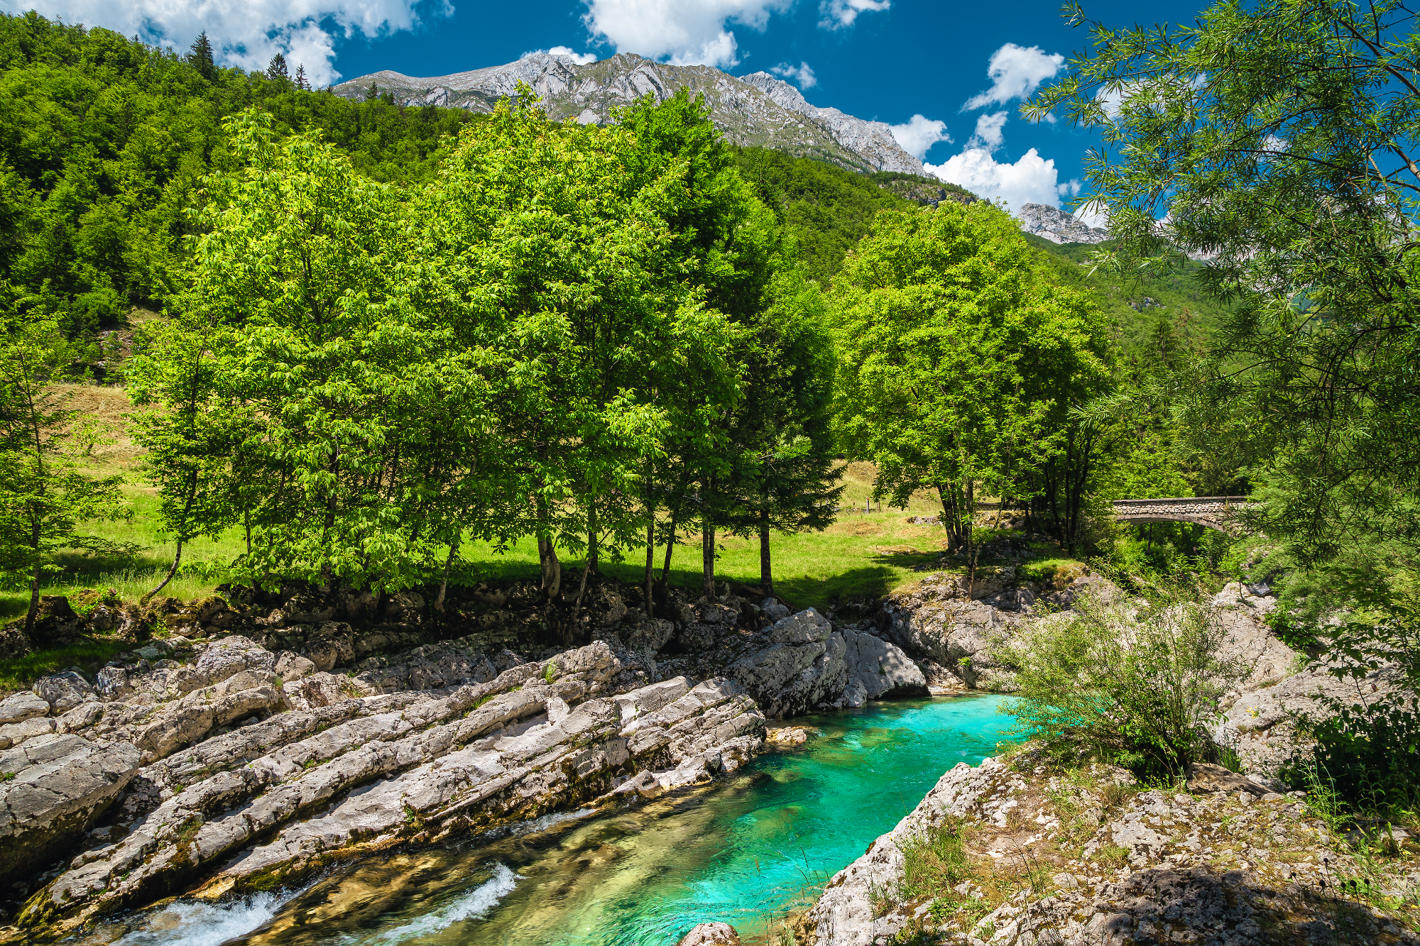
POLYGON ((444 268, 470 300, 467 324, 507 355, 498 428, 550 598, 557 547, 585 555, 571 636, 598 555, 645 535, 672 418, 706 408, 677 392, 699 385, 709 409, 733 398, 736 332, 687 278, 699 261, 672 224, 706 212, 690 165, 648 159, 626 124, 554 126, 530 102, 500 104, 460 139, 420 216, 456 260, 444 268))

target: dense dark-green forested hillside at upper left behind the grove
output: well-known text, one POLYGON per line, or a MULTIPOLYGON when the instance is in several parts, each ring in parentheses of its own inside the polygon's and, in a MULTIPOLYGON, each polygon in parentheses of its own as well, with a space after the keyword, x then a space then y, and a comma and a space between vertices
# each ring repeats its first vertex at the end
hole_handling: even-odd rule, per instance
POLYGON ((230 166, 223 118, 258 105, 375 180, 427 179, 467 112, 351 102, 178 57, 104 28, 0 14, 0 281, 91 337, 182 284, 204 175, 230 166))

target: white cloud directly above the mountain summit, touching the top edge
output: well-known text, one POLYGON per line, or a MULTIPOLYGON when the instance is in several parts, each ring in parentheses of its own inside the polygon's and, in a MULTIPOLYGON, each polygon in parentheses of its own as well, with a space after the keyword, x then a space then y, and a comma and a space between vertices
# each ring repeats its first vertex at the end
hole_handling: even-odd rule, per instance
POLYGON ((586 0, 582 23, 592 36, 616 47, 672 65, 740 64, 738 43, 726 28, 736 23, 764 30, 771 13, 794 0, 586 0))

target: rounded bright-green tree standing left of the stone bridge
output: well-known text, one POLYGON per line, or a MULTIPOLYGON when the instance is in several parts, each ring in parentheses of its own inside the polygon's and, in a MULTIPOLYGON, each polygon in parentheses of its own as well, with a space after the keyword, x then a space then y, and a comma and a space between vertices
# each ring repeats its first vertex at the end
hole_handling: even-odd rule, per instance
POLYGON ((1045 284, 985 203, 879 214, 831 301, 841 442, 895 503, 936 490, 949 548, 970 555, 977 490, 1024 496, 1068 409, 1108 381, 1098 312, 1045 284))

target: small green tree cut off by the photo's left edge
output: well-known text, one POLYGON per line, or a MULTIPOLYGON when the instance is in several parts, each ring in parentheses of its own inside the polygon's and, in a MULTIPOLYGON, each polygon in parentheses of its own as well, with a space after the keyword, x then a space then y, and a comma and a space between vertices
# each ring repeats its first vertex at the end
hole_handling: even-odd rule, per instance
POLYGON ((61 550, 131 551, 85 534, 92 520, 126 510, 122 477, 77 467, 70 428, 75 411, 54 384, 67 379, 72 345, 53 315, 30 312, 9 288, 0 334, 0 567, 30 581, 24 631, 34 631, 40 584, 61 550))

